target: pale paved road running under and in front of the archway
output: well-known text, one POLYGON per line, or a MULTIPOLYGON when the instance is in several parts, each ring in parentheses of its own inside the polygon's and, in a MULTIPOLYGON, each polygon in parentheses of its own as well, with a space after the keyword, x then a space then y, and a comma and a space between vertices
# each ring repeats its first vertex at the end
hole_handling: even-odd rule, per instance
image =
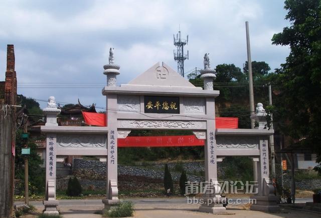
MULTIPOLYGON (((186 198, 128 198, 134 203, 134 217, 142 218, 163 218, 163 217, 184 217, 184 218, 207 218, 213 217, 213 214, 198 212, 199 204, 187 204, 186 198)), ((297 198, 298 202, 311 201, 311 198, 297 198)), ((24 202, 15 202, 17 206, 24 202)), ((42 201, 31 201, 39 211, 44 206, 42 201)), ((59 200, 59 209, 64 218, 94 218, 101 217, 100 214, 94 214, 97 210, 103 208, 100 199, 87 200, 59 200)), ((319 213, 299 211, 282 208, 280 212, 265 213, 248 210, 247 205, 228 205, 225 214, 216 215, 218 217, 247 217, 247 218, 277 218, 277 217, 320 217, 319 213)))

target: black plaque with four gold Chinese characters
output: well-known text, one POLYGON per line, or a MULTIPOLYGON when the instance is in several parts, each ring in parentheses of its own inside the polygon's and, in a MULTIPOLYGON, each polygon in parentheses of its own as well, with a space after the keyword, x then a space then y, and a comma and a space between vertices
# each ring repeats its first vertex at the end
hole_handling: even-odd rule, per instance
POLYGON ((179 114, 180 98, 165 96, 144 96, 145 113, 179 114))

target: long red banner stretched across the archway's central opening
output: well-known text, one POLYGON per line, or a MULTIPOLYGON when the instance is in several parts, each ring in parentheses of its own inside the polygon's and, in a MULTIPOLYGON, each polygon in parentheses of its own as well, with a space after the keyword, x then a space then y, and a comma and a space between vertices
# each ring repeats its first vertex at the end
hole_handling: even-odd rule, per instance
POLYGON ((127 136, 118 138, 118 147, 183 147, 204 146, 205 140, 195 135, 180 136, 127 136))

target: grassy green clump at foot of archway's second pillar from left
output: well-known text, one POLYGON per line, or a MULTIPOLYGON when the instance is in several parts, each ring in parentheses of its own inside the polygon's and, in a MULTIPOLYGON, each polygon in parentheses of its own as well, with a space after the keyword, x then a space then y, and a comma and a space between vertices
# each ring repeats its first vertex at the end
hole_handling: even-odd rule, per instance
POLYGON ((134 207, 131 201, 119 202, 115 207, 106 210, 103 217, 127 217, 133 216, 134 207))

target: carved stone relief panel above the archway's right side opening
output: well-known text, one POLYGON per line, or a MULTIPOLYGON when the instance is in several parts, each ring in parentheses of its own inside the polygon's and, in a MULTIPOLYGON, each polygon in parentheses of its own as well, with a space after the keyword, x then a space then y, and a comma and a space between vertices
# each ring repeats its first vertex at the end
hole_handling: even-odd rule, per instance
POLYGON ((216 136, 216 145, 218 149, 244 148, 258 149, 259 140, 250 136, 216 136))

